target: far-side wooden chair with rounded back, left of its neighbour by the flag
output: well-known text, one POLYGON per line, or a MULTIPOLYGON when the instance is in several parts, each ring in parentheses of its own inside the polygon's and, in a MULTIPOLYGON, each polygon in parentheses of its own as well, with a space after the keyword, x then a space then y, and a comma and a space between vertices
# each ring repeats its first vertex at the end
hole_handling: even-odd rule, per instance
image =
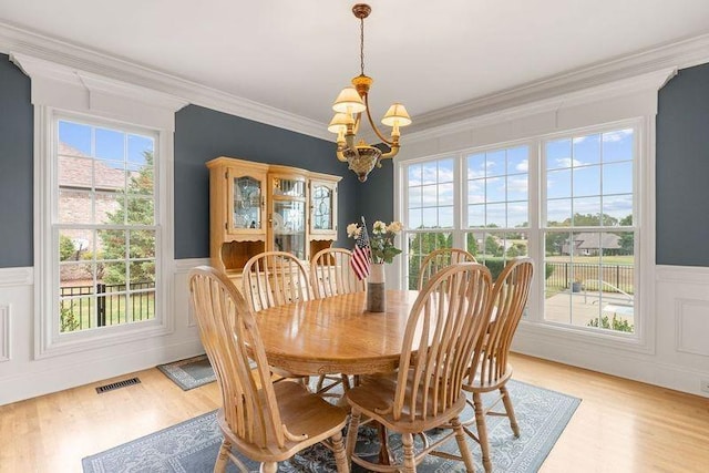
MULTIPOLYGON (((311 299, 308 269, 286 251, 265 251, 251 257, 244 265, 242 284, 254 312, 311 299)), ((298 378, 308 384, 309 377, 296 376, 277 367, 271 371, 281 378, 298 378)))

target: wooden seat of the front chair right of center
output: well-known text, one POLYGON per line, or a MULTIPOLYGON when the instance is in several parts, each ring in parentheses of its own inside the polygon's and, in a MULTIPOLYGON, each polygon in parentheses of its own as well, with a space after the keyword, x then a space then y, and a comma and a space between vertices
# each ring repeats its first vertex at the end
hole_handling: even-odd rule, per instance
MULTIPOLYGON (((401 418, 399 420, 394 420, 391 412, 383 413, 382 411, 390 411, 389 408, 397 391, 397 377, 398 373, 391 373, 364 378, 360 385, 352 388, 347 392, 346 395, 348 403, 352 407, 357 407, 364 415, 374 419, 387 426, 387 429, 410 433, 423 432, 439 426, 460 414, 460 412, 465 408, 465 395, 460 395, 458 402, 448 410, 439 409, 439 413, 436 415, 428 415, 425 419, 422 419, 420 413, 423 412, 423 407, 421 403, 418 403, 415 409, 419 412, 419 415, 415 415, 415 420, 413 422, 407 421, 410 419, 411 414, 409 405, 404 405, 401 412, 401 418)), ((411 395, 410 387, 418 385, 418 383, 413 382, 412 377, 413 371, 409 374, 407 380, 407 399, 410 399, 411 395)), ((427 411, 431 413, 434 408, 432 392, 430 392, 425 398, 428 404, 427 411)))

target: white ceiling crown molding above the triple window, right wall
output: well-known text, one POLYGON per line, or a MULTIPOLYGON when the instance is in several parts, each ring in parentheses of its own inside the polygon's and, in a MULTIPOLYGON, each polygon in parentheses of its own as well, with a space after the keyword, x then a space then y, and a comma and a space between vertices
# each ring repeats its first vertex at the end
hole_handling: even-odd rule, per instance
POLYGON ((661 69, 684 69, 705 62, 709 62, 709 34, 665 43, 417 115, 405 136, 661 69))

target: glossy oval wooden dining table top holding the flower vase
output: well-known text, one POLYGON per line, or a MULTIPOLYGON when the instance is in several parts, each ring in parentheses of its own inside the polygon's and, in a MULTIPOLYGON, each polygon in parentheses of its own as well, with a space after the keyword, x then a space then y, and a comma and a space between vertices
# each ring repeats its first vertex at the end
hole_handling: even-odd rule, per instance
POLYGON ((271 307, 255 317, 271 366, 294 374, 391 372, 418 295, 388 290, 386 312, 368 312, 366 292, 356 292, 271 307))

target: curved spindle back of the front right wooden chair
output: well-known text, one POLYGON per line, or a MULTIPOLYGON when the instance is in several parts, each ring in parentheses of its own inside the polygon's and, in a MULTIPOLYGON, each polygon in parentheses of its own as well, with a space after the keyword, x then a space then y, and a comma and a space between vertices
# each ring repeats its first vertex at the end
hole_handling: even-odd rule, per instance
POLYGON ((444 268, 427 282, 407 322, 394 420, 435 417, 463 395, 473 349, 487 327, 491 292, 490 270, 475 263, 444 268))

